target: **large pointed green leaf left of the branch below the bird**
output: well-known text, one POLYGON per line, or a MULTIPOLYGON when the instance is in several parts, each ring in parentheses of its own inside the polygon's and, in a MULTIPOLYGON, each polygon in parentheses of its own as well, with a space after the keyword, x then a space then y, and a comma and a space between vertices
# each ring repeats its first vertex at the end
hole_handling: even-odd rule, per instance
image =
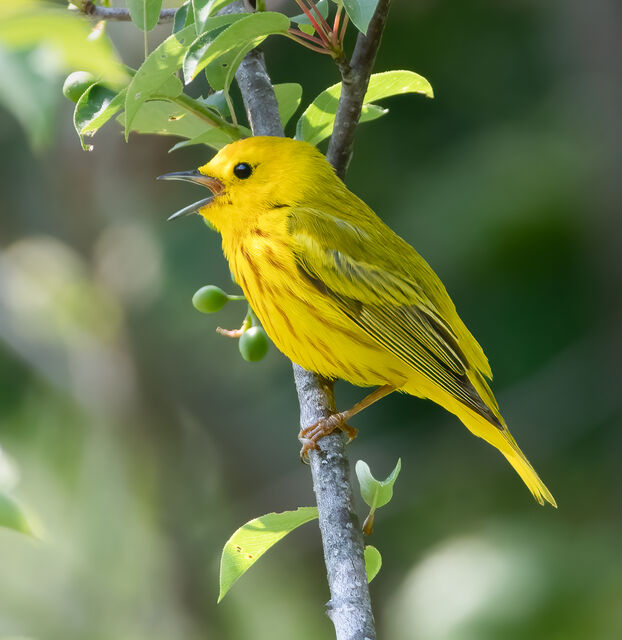
POLYGON ((225 544, 220 561, 220 602, 233 583, 257 560, 301 524, 317 518, 316 507, 299 507, 295 511, 267 513, 240 527, 225 544))

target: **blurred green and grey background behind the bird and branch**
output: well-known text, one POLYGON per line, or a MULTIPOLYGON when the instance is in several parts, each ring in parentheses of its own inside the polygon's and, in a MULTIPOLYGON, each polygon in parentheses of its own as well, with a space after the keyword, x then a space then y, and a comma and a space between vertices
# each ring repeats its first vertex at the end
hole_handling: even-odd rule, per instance
MULTIPOLYGON (((352 460, 377 477, 403 466, 369 540, 383 638, 622 637, 621 13, 394 3, 376 70, 417 71, 436 98, 386 101, 347 181, 446 283, 559 509, 436 406, 395 396, 357 417, 352 460)), ((139 64, 135 28, 109 33, 139 64)), ((265 51, 303 104, 337 81, 293 43, 265 51)), ((314 524, 216 606, 232 531, 313 494, 289 363, 272 349, 248 364, 216 335, 241 303, 216 316, 190 303, 233 285, 215 234, 166 222, 195 189, 154 178, 209 152, 126 144, 116 123, 83 152, 62 76, 44 76, 38 148, 0 117, 2 473, 45 529, 0 530, 0 638, 332 637, 314 524)), ((337 395, 345 407, 362 391, 337 395)))

